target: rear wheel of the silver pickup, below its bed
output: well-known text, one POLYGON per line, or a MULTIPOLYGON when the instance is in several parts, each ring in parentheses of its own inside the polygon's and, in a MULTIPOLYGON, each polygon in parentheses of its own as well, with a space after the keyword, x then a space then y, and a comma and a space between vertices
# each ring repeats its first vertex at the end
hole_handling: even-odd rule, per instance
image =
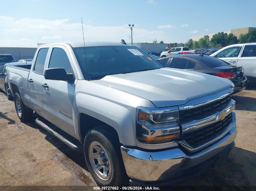
POLYGON ((18 93, 14 95, 14 104, 18 118, 21 122, 26 122, 32 119, 33 110, 26 107, 18 93))

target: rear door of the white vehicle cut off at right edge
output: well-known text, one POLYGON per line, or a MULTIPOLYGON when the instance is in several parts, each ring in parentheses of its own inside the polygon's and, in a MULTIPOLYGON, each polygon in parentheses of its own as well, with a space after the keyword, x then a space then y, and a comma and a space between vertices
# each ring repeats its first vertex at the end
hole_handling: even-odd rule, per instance
POLYGON ((256 45, 245 45, 237 65, 244 68, 245 76, 256 77, 256 45))

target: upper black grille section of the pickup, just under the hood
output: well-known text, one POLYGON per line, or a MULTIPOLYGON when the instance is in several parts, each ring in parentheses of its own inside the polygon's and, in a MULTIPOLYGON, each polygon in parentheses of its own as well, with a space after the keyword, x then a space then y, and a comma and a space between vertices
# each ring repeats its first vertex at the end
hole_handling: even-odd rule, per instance
POLYGON ((191 122, 193 120, 203 119, 218 111, 222 111, 228 106, 231 96, 226 96, 220 100, 199 106, 193 109, 179 111, 179 121, 181 124, 191 122))

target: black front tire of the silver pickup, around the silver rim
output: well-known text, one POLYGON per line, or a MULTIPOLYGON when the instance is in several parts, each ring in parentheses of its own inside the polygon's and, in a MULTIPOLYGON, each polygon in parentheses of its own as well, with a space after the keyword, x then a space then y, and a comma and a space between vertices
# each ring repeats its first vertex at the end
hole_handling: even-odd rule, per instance
MULTIPOLYGON (((98 151, 96 151, 96 153, 98 154, 98 151)), ((109 128, 109 126, 100 125, 89 130, 85 136, 84 154, 87 167, 98 186, 128 185, 129 179, 122 160, 120 143, 116 132, 109 128), (89 154, 90 145, 95 142, 100 143, 108 155, 108 162, 111 164, 111 175, 108 180, 102 180, 94 171, 94 167, 92 165, 95 165, 95 163, 91 164, 91 155, 89 154)), ((108 173, 110 172, 108 171, 108 173)))

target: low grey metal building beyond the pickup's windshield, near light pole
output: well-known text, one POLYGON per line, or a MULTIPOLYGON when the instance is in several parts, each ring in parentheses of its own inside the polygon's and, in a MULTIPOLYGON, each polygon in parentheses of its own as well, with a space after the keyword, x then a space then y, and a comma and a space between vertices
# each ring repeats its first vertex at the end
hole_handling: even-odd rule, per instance
POLYGON ((165 43, 132 43, 146 53, 164 51, 168 44, 165 43))

